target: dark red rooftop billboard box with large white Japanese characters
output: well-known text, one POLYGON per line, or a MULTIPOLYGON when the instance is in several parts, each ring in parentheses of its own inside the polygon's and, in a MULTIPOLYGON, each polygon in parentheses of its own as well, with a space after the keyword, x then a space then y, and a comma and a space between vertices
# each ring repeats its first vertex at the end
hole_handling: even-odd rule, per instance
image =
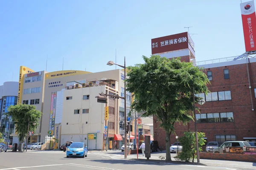
POLYGON ((152 54, 187 49, 195 56, 195 45, 188 32, 151 39, 152 54))

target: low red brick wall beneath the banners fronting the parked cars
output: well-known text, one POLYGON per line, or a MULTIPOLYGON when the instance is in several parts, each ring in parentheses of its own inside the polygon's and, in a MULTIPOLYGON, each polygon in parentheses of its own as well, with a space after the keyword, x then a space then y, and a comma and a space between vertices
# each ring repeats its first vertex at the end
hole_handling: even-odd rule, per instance
POLYGON ((235 153, 203 153, 203 152, 201 152, 200 159, 255 162, 256 155, 235 154, 235 153))

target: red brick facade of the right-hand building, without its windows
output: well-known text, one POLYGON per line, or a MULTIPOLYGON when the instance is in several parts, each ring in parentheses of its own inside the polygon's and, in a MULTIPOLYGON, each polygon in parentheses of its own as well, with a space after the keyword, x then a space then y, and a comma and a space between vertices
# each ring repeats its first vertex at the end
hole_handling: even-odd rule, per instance
MULTIPOLYGON (((253 108, 256 106, 254 88, 256 88, 256 62, 249 64, 250 82, 252 90, 253 108)), ((198 132, 204 132, 207 142, 215 141, 215 134, 236 134, 237 140, 244 137, 256 137, 256 110, 252 111, 252 102, 247 77, 246 64, 228 65, 218 68, 207 68, 212 71, 212 81, 208 85, 210 91, 231 91, 232 100, 206 102, 197 105, 201 113, 233 112, 234 122, 228 123, 198 123, 198 132), (224 79, 224 69, 229 69, 230 79, 224 79)), ((256 108, 254 108, 256 109, 256 108)), ((165 147, 165 132, 159 127, 154 118, 154 140, 159 142, 160 147, 165 147)), ((182 136, 184 131, 195 130, 195 123, 190 122, 187 126, 175 124, 176 135, 182 136)), ((170 144, 175 142, 175 136, 171 135, 170 144)))

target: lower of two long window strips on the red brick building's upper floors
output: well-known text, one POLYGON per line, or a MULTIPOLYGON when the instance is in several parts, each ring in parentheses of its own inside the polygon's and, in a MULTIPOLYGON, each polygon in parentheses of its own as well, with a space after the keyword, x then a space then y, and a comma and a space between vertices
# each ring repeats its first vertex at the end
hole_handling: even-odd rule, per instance
POLYGON ((195 114, 197 123, 234 122, 233 112, 195 114))

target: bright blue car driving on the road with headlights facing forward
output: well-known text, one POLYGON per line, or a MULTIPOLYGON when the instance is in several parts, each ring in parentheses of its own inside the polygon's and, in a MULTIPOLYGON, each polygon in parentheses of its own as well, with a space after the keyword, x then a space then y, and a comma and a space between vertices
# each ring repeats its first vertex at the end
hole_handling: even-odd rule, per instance
POLYGON ((67 158, 69 157, 87 157, 87 147, 84 142, 74 142, 67 147, 67 158))

